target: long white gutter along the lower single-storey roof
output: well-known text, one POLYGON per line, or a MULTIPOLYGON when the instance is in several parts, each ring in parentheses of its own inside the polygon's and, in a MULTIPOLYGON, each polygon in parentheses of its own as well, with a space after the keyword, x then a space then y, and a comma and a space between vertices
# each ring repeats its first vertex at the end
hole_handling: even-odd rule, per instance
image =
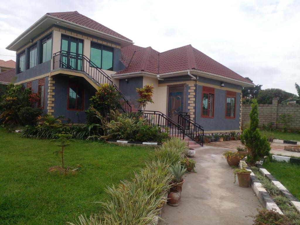
POLYGON ((202 76, 202 77, 206 77, 206 78, 210 78, 210 79, 215 79, 215 80, 219 80, 219 81, 224 81, 224 82, 228 82, 228 83, 241 85, 243 87, 254 86, 254 84, 250 84, 250 83, 247 83, 244 81, 232 79, 232 78, 225 77, 225 76, 220 76, 220 75, 217 75, 214 73, 207 73, 207 72, 203 72, 203 71, 199 71, 199 70, 183 70, 183 71, 178 71, 178 72, 162 73, 162 74, 154 74, 154 73, 147 73, 147 72, 133 72, 133 73, 114 74, 114 75, 112 75, 112 77, 116 78, 116 79, 120 79, 120 78, 123 79, 123 78, 136 77, 136 76, 151 76, 151 77, 156 76, 159 80, 163 80, 166 77, 182 76, 182 75, 188 74, 189 76, 192 77, 192 80, 195 80, 196 77, 189 73, 193 73, 194 75, 197 75, 197 76, 202 76))

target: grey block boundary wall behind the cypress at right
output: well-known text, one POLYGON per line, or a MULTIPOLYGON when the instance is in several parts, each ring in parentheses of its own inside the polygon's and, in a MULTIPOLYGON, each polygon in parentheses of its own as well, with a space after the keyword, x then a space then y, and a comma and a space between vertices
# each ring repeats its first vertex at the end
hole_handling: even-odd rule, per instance
MULTIPOLYGON (((250 104, 243 104, 242 106, 242 125, 249 124, 249 113, 251 110, 250 104)), ((282 105, 278 104, 277 98, 273 99, 270 105, 258 105, 258 119, 259 126, 263 124, 267 125, 268 122, 273 122, 274 129, 282 128, 282 124, 277 124, 279 115, 283 113, 289 113, 292 115, 292 121, 289 123, 290 129, 300 130, 300 104, 282 105)))

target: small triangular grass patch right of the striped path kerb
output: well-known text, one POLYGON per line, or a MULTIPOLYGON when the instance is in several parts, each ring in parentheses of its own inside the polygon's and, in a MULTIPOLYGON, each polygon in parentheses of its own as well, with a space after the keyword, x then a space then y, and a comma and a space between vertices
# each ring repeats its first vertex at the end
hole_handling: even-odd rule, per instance
POLYGON ((272 161, 264 163, 265 167, 280 183, 300 200, 300 165, 272 161))

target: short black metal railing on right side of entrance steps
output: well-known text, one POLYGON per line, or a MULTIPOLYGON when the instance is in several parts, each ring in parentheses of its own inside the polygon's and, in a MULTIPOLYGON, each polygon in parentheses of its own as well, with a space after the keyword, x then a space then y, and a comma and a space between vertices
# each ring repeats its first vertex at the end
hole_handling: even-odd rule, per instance
POLYGON ((190 119, 189 113, 179 113, 178 124, 184 128, 184 134, 187 137, 203 146, 204 129, 202 126, 190 119))

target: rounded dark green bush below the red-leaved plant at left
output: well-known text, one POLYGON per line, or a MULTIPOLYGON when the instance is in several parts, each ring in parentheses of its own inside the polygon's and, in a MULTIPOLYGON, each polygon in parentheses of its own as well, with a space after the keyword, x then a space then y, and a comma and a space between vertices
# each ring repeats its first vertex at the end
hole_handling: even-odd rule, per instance
POLYGON ((37 117, 43 113, 43 109, 34 107, 23 107, 20 109, 18 115, 22 125, 35 125, 37 117))

